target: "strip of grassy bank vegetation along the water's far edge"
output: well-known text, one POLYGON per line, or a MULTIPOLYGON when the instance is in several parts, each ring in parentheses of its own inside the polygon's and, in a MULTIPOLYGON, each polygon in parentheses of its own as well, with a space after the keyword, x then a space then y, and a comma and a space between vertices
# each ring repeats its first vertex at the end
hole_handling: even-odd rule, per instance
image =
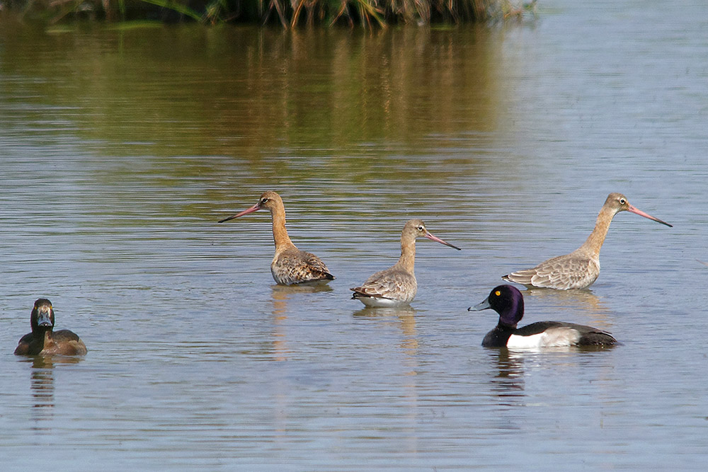
POLYGON ((536 0, 0 0, 0 10, 25 19, 166 23, 362 25, 489 22, 533 14, 536 0))

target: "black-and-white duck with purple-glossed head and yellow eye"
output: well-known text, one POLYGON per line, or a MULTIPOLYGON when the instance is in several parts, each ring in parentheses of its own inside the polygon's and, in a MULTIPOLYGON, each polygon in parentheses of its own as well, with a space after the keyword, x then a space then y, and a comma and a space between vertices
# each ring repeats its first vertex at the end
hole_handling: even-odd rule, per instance
POLYGON ((484 347, 533 349, 561 346, 611 346, 617 340, 607 331, 591 326, 562 321, 538 321, 523 328, 516 326, 524 316, 524 297, 512 285, 498 285, 489 297, 467 311, 493 309, 499 313, 499 323, 482 340, 484 347))

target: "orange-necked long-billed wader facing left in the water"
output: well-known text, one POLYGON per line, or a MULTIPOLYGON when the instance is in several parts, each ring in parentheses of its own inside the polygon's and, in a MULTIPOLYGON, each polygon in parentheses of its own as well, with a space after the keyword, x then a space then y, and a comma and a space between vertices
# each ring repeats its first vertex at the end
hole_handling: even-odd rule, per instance
POLYGON ((285 229, 285 206, 282 205, 280 195, 275 192, 263 192, 256 205, 244 209, 239 214, 234 214, 233 217, 224 218, 219 223, 242 217, 244 214, 253 213, 263 208, 270 211, 270 217, 273 219, 275 257, 270 263, 270 272, 273 274, 275 282, 280 285, 292 285, 334 280, 334 276, 320 258, 312 253, 300 251, 290 241, 290 236, 287 236, 287 229, 285 229))

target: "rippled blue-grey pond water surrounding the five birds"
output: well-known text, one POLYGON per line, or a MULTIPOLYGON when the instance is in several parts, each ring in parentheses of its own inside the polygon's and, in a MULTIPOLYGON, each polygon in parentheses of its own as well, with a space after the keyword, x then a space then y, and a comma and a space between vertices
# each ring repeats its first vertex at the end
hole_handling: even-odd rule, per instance
POLYGON ((493 28, 0 27, 0 459, 105 470, 703 469, 708 6, 541 2, 493 28), (270 221, 337 275, 277 287, 270 221), (525 321, 606 351, 480 346, 502 274, 569 252, 525 321), (418 241, 411 308, 348 287, 418 241), (23 359, 34 299, 89 347, 23 359))

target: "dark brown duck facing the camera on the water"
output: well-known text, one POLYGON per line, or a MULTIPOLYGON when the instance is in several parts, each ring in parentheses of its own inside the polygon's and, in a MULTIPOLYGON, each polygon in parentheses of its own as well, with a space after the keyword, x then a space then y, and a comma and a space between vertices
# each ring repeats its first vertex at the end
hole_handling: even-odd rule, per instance
POLYGON ((86 345, 73 331, 54 330, 54 309, 52 302, 45 298, 35 301, 30 315, 32 333, 20 338, 16 355, 86 355, 86 345))

